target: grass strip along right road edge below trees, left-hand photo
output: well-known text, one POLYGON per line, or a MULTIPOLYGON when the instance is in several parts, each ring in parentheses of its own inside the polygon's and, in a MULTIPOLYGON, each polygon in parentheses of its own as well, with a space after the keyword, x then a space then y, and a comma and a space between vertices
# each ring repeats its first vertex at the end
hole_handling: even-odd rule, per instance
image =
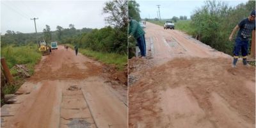
MULTIPOLYGON (((74 46, 66 44, 68 47, 74 49, 74 46)), ((116 65, 118 70, 125 70, 125 65, 127 64, 127 55, 108 53, 108 52, 97 52, 90 49, 78 49, 78 52, 84 54, 85 56, 92 57, 95 60, 101 61, 102 63, 108 65, 116 65)))

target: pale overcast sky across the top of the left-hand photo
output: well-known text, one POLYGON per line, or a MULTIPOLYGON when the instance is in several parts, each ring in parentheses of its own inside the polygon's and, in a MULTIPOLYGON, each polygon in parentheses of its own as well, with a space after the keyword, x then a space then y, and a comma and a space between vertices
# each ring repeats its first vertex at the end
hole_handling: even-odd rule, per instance
POLYGON ((103 28, 108 26, 102 15, 106 1, 3 1, 1 0, 1 34, 7 30, 34 33, 42 32, 45 25, 51 31, 56 26, 68 28, 74 24, 76 29, 103 28))

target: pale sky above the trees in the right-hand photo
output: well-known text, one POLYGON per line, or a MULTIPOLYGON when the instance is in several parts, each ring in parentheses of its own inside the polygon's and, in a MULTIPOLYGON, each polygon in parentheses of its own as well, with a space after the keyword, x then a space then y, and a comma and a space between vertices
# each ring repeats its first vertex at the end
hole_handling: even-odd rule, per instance
MULTIPOLYGON (((246 3, 247 1, 241 0, 241 1, 223 1, 227 3, 229 6, 236 6, 240 3, 246 3)), ((196 8, 200 8, 204 5, 204 1, 174 1, 174 0, 168 0, 168 1, 137 1, 138 4, 140 4, 140 16, 142 19, 150 17, 156 18, 157 17, 157 11, 158 8, 156 5, 160 5, 160 14, 161 19, 171 19, 173 16, 180 17, 180 15, 186 15, 188 19, 190 18, 190 15, 193 13, 193 10, 196 10, 196 8)))

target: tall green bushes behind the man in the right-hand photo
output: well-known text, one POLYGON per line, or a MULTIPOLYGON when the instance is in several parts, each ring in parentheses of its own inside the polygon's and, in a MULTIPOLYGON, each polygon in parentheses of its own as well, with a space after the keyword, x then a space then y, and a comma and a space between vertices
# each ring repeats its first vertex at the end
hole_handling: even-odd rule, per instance
POLYGON ((204 6, 191 15, 192 35, 218 51, 232 55, 234 41, 228 37, 232 29, 255 10, 255 1, 235 7, 221 1, 205 1, 204 6))

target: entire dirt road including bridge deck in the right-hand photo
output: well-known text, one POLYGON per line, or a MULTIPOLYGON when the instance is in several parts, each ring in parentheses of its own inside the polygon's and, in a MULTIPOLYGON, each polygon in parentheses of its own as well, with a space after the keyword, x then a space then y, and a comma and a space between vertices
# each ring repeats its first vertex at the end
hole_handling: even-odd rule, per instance
POLYGON ((255 127, 255 67, 147 22, 148 60, 129 60, 129 127, 255 127))

